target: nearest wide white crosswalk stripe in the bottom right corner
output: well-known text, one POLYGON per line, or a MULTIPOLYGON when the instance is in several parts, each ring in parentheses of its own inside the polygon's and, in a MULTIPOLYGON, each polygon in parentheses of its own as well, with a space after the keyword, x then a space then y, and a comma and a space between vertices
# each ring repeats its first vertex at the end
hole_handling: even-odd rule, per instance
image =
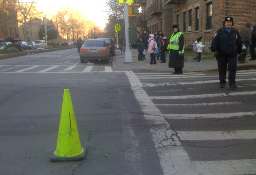
POLYGON ((228 161, 193 161, 198 175, 254 175, 256 174, 256 159, 228 161), (205 174, 205 172, 209 172, 205 174))

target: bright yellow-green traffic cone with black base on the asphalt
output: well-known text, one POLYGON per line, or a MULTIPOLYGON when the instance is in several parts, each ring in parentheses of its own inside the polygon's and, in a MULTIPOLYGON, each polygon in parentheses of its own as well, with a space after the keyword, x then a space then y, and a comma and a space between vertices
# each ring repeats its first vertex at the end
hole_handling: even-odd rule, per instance
POLYGON ((61 121, 57 140, 57 147, 51 161, 81 161, 86 156, 82 149, 75 122, 74 110, 68 89, 64 90, 61 121))

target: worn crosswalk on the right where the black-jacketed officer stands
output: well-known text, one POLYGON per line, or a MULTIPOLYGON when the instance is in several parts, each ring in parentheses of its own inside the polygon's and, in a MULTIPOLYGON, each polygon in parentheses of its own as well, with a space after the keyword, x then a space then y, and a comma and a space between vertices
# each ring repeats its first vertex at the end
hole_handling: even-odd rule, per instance
MULTIPOLYGON (((141 110, 144 112, 144 118, 148 123, 164 175, 256 174, 256 156, 242 155, 244 157, 238 156, 239 159, 229 159, 229 156, 225 159, 223 159, 223 157, 217 159, 206 156, 206 160, 199 160, 200 156, 194 155, 193 149, 191 151, 188 145, 184 146, 184 144, 192 144, 194 145, 192 147, 197 147, 202 143, 212 145, 214 143, 227 144, 227 142, 236 142, 234 144, 239 145, 238 143, 244 140, 248 141, 248 144, 253 144, 256 139, 255 127, 240 128, 240 126, 237 125, 235 130, 229 130, 225 127, 220 127, 219 130, 209 130, 209 128, 205 126, 202 127, 202 130, 198 127, 193 130, 188 130, 186 127, 180 130, 174 130, 173 127, 175 124, 172 123, 174 121, 177 123, 177 120, 184 121, 185 123, 196 123, 198 120, 204 120, 211 123, 212 121, 216 122, 218 119, 216 123, 220 124, 224 120, 231 118, 240 118, 243 120, 244 117, 248 116, 256 117, 256 109, 252 108, 251 111, 243 110, 243 107, 240 106, 246 104, 243 104, 238 98, 248 96, 253 99, 253 97, 256 97, 256 91, 253 91, 256 86, 256 78, 251 78, 253 75, 256 75, 256 71, 237 72, 236 81, 245 81, 247 82, 247 84, 244 84, 245 87, 252 87, 247 88, 246 91, 223 91, 221 93, 200 93, 200 91, 195 91, 197 94, 192 95, 191 93, 194 92, 193 87, 191 87, 191 90, 182 92, 185 93, 182 95, 179 94, 179 90, 174 93, 166 93, 164 88, 168 89, 169 87, 173 90, 176 86, 181 88, 182 85, 198 86, 202 84, 217 84, 219 82, 218 76, 197 72, 170 75, 165 73, 134 73, 133 71, 126 71, 126 75, 130 81, 135 97, 141 105, 141 110), (243 78, 239 78, 240 76, 243 76, 243 78), (197 79, 196 77, 206 78, 206 80, 196 81, 194 80, 197 79), (210 77, 216 80, 209 80, 210 77), (184 81, 185 78, 187 78, 186 81, 184 81), (148 79, 152 81, 148 81, 148 79), (163 79, 163 82, 157 81, 156 83, 151 83, 155 82, 155 79, 160 81, 163 79), (170 79, 173 81, 170 81, 170 79), (162 88, 162 91, 159 91, 159 87, 164 88, 162 88), (195 103, 186 103, 188 100, 194 100, 195 103), (208 107, 216 108, 216 113, 201 112, 207 111, 208 107), (227 113, 225 109, 231 107, 237 108, 237 110, 232 113, 227 113), (191 110, 192 108, 193 110, 191 110), (180 112, 172 112, 173 110, 177 111, 177 109, 180 109, 180 112), (191 113, 191 111, 198 112, 191 113), (209 158, 209 160, 207 160, 207 158, 209 158)), ((216 149, 218 147, 219 146, 216 146, 216 149)), ((256 145, 254 145, 254 148, 255 147, 256 145)), ((223 146, 223 148, 225 148, 225 146, 223 146)), ((221 148, 220 150, 218 149, 218 151, 221 152, 221 148)), ((216 150, 216 152, 218 151, 216 150)), ((226 153, 221 152, 219 154, 226 153)))

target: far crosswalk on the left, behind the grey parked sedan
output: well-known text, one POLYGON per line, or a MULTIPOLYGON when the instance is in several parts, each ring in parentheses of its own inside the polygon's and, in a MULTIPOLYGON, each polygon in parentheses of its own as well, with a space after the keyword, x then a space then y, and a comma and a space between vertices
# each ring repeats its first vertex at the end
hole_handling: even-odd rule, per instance
POLYGON ((111 66, 94 65, 0 65, 0 73, 98 73, 114 72, 111 66))

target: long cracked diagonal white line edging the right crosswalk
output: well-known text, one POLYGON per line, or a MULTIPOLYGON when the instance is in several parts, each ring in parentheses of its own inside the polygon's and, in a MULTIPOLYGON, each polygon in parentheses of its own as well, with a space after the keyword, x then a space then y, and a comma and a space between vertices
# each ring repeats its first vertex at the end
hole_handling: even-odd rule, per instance
POLYGON ((198 175, 175 132, 143 90, 140 79, 132 71, 126 71, 126 75, 141 110, 145 113, 144 118, 148 123, 164 175, 198 175))

